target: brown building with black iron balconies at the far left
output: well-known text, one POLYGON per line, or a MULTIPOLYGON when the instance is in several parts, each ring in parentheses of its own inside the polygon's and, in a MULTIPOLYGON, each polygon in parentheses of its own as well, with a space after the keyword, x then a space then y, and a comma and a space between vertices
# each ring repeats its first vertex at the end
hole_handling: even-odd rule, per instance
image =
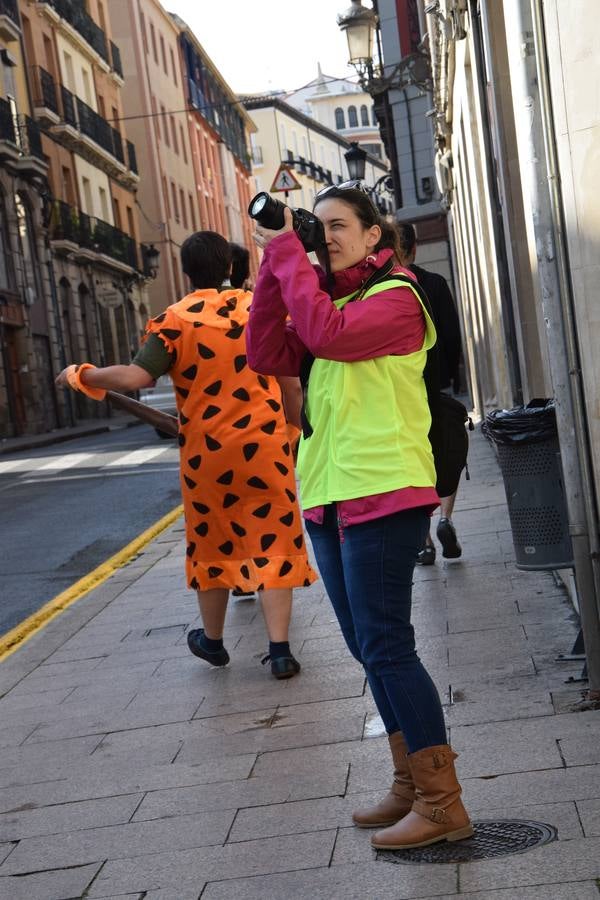
POLYGON ((106 9, 100 0, 7 0, 1 12, 3 280, 12 299, 2 314, 0 429, 10 437, 105 414, 57 391, 54 378, 71 361, 129 361, 147 272, 106 9))

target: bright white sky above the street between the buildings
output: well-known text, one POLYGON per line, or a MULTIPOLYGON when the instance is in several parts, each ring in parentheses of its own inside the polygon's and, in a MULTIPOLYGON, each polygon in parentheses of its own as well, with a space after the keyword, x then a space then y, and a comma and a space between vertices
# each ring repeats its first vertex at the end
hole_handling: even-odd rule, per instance
POLYGON ((161 0, 181 16, 236 93, 293 90, 325 75, 349 78, 336 16, 349 0, 161 0), (293 15, 293 10, 301 15, 293 15))

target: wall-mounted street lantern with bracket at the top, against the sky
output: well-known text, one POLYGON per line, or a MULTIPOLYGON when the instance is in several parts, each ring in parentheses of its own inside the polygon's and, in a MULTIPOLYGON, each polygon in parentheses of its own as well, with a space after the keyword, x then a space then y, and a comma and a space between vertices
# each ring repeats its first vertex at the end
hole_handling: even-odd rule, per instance
POLYGON ((388 90, 404 90, 415 85, 421 90, 432 88, 429 56, 421 49, 404 56, 387 75, 380 66, 373 65, 373 42, 378 23, 372 9, 362 5, 361 0, 352 0, 345 12, 337 17, 341 31, 348 40, 348 56, 351 66, 358 74, 360 86, 372 97, 388 90))

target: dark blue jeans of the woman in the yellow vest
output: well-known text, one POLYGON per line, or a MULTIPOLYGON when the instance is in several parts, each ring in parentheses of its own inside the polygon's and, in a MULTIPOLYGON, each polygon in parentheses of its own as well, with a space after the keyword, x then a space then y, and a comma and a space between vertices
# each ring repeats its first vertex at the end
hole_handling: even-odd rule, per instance
POLYGON ((447 743, 440 697, 417 656, 410 622, 413 572, 429 516, 408 509, 341 530, 332 504, 322 525, 308 521, 306 527, 342 634, 365 668, 386 731, 402 731, 410 753, 447 743))

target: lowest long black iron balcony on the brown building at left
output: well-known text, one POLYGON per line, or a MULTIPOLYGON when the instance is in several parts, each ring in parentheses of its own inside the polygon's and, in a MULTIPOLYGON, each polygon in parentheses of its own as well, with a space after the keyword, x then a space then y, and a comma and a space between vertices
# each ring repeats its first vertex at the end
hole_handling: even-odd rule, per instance
POLYGON ((53 203, 49 232, 58 252, 102 261, 119 272, 143 273, 147 268, 144 245, 138 248, 124 231, 62 200, 53 203))

